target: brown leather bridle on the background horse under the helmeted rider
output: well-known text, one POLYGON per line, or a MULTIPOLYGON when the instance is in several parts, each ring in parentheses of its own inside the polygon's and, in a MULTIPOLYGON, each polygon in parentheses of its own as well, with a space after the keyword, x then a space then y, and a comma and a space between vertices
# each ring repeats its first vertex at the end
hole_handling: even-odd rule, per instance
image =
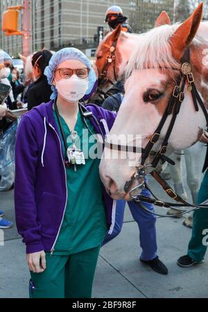
POLYGON ((99 73, 99 78, 98 78, 98 88, 96 90, 96 93, 98 93, 98 96, 100 96, 102 99, 104 96, 104 99, 109 96, 108 92, 103 92, 102 90, 102 85, 103 83, 109 82, 111 85, 114 85, 112 80, 107 78, 107 71, 110 69, 110 66, 113 66, 113 72, 114 72, 114 80, 118 82, 118 78, 116 76, 116 46, 119 40, 119 36, 116 37, 114 42, 110 45, 105 43, 104 46, 109 49, 107 56, 105 58, 105 65, 103 67, 103 70, 101 73, 99 73))

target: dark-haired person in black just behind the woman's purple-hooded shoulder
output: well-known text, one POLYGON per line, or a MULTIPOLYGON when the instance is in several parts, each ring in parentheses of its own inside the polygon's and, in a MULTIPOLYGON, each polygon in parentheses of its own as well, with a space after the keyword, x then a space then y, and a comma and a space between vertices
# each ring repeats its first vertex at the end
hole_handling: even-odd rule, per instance
POLYGON ((36 81, 28 89, 28 111, 35 106, 50 101, 52 90, 46 76, 44 76, 44 69, 49 65, 52 55, 48 50, 42 50, 33 55, 33 75, 36 81))

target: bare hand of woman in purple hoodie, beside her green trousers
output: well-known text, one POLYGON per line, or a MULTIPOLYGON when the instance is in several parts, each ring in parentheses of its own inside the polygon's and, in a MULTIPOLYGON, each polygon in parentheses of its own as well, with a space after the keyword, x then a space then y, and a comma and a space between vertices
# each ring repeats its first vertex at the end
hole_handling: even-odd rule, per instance
POLYGON ((46 254, 42 252, 34 252, 26 256, 28 267, 33 273, 42 273, 46 270, 46 254))

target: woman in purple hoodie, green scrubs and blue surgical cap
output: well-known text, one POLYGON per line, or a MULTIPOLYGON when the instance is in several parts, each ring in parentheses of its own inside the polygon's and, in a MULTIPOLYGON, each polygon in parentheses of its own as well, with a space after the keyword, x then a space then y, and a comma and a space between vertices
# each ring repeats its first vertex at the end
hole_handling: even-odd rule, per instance
POLYGON ((79 50, 55 53, 45 75, 51 101, 22 117, 16 144, 15 211, 31 271, 30 296, 91 297, 116 209, 99 177, 97 136, 105 138, 115 115, 81 105, 96 75, 79 50))

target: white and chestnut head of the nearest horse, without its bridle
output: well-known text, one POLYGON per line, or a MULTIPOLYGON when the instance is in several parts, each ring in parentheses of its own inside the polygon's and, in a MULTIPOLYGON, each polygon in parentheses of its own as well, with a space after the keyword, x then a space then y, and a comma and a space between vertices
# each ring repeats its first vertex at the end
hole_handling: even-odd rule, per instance
MULTIPOLYGON (((208 67, 205 58, 208 42, 205 37, 199 36, 200 31, 196 35, 201 17, 202 4, 180 26, 162 25, 139 39, 139 44, 128 62, 125 97, 108 138, 112 144, 114 144, 112 137, 119 137, 121 134, 132 135, 134 138, 141 135, 140 146, 145 148, 153 138, 155 129, 167 110, 171 96, 175 95, 173 89, 181 74, 182 57, 188 46, 191 51, 191 71, 196 89, 207 105, 208 67)), ((170 155, 174 150, 188 148, 195 144, 207 124, 200 105, 196 111, 191 88, 188 85, 186 82, 184 100, 177 114, 171 136, 168 138, 166 155, 170 155)), ((181 95, 181 100, 182 97, 181 95)), ((171 119, 172 114, 169 114, 159 139, 154 144, 154 150, 160 149, 171 119)), ((137 141, 134 143, 139 146, 137 141)), ((131 146, 132 141, 127 141, 126 145, 131 146)), ((141 163, 141 153, 135 154, 133 164, 132 153, 129 152, 125 159, 122 159, 123 157, 114 159, 114 153, 117 154, 117 150, 105 148, 100 166, 101 178, 112 198, 129 200, 129 192, 126 191, 125 185, 135 176, 135 168, 141 163)), ((119 152, 119 156, 122 153, 119 152)), ((145 164, 150 164, 152 161, 153 156, 148 155, 145 164)), ((136 184, 137 181, 132 181, 131 187, 136 184)))

